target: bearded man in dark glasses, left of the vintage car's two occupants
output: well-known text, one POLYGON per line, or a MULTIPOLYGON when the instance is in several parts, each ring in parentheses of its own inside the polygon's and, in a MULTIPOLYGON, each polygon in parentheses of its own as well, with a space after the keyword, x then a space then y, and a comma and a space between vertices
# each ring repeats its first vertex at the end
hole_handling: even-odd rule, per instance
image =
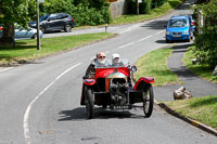
POLYGON ((106 61, 106 54, 104 52, 98 52, 97 57, 88 66, 85 77, 91 78, 92 77, 91 70, 93 70, 94 67, 107 67, 107 66, 108 62, 106 61))

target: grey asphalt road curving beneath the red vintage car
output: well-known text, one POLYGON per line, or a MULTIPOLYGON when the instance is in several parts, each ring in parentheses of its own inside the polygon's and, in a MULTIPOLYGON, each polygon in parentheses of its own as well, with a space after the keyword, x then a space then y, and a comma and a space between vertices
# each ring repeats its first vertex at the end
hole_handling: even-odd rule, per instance
POLYGON ((216 144, 216 136, 158 107, 151 118, 144 118, 139 108, 98 109, 94 119, 87 120, 79 105, 81 78, 97 52, 104 51, 108 57, 119 53, 135 63, 167 45, 164 25, 182 12, 187 11, 181 8, 130 30, 126 26, 122 35, 106 41, 1 70, 0 144, 216 144))

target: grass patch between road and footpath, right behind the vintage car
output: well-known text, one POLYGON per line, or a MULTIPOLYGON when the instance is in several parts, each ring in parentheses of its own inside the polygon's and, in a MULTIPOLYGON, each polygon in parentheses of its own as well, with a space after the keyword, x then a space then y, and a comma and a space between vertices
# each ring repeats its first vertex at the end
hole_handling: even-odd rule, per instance
POLYGON ((167 66, 167 60, 171 55, 173 49, 158 49, 151 51, 139 58, 136 63, 138 71, 135 79, 140 77, 154 77, 153 86, 166 86, 179 82, 176 74, 171 73, 167 66))

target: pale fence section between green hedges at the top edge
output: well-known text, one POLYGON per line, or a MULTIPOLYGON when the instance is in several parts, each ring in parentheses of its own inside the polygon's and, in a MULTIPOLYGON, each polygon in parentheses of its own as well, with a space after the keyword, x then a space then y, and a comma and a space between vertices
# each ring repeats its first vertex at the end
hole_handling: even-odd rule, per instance
POLYGON ((111 15, 113 18, 118 17, 127 12, 127 0, 118 0, 110 3, 111 15))

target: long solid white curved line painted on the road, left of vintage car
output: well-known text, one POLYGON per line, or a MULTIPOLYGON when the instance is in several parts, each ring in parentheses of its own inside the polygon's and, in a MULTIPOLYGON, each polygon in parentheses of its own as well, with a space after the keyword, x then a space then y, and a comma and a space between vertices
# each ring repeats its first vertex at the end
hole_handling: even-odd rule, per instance
POLYGON ((81 63, 78 63, 71 68, 66 69, 63 71, 61 75, 59 75, 50 84, 48 84, 27 106, 25 115, 24 115, 24 121, 23 121, 23 128, 24 128, 24 138, 26 144, 30 144, 30 132, 29 132, 29 127, 28 127, 28 119, 29 119, 29 114, 31 110, 33 105, 36 103, 36 101, 49 89, 51 88, 61 77, 63 77, 65 74, 67 74, 69 70, 74 69, 75 67, 81 65, 81 63))

